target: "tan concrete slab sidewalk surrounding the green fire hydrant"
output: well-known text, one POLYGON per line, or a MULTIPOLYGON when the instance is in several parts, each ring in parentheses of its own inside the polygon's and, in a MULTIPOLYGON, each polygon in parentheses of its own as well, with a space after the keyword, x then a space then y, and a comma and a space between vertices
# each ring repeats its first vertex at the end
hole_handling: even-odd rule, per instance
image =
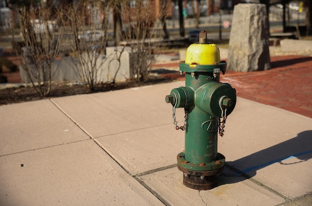
POLYGON ((219 186, 183 186, 184 132, 164 101, 180 86, 0 106, 0 205, 275 206, 312 192, 312 118, 242 98, 219 138, 219 186))

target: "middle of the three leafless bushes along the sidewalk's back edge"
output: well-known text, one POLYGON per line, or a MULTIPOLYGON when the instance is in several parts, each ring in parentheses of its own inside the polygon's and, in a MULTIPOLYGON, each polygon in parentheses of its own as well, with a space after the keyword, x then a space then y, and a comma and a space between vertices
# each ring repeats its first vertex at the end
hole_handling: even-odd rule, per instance
POLYGON ((106 61, 110 9, 114 9, 112 0, 85 1, 70 4, 63 18, 63 25, 68 24, 70 30, 67 43, 73 69, 89 91, 96 90, 103 82, 101 72, 106 61))

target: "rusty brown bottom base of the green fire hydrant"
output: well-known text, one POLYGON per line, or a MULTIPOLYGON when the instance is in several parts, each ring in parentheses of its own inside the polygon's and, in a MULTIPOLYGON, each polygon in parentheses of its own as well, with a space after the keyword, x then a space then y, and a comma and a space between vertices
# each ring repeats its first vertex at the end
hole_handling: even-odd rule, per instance
POLYGON ((211 190, 218 186, 218 176, 224 167, 212 171, 193 171, 177 166, 183 172, 183 185, 194 190, 211 190), (191 175, 191 174, 196 175, 191 175))

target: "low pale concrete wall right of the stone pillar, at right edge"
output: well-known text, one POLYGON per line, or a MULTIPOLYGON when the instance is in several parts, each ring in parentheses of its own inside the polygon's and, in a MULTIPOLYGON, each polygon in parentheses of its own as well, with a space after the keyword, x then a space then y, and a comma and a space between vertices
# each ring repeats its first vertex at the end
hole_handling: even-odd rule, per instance
POLYGON ((297 39, 283 39, 280 41, 282 52, 301 52, 312 51, 312 41, 297 40, 297 39))

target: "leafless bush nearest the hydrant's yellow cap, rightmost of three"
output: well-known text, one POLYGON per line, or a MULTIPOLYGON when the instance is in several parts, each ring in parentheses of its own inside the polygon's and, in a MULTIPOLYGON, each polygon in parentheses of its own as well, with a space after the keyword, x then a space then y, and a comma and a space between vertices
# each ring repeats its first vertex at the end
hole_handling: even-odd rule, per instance
POLYGON ((161 50, 162 38, 157 30, 163 26, 164 7, 147 0, 136 0, 135 5, 125 0, 122 7, 124 29, 121 32, 132 56, 131 77, 137 82, 145 82, 156 62, 156 53, 161 50))

